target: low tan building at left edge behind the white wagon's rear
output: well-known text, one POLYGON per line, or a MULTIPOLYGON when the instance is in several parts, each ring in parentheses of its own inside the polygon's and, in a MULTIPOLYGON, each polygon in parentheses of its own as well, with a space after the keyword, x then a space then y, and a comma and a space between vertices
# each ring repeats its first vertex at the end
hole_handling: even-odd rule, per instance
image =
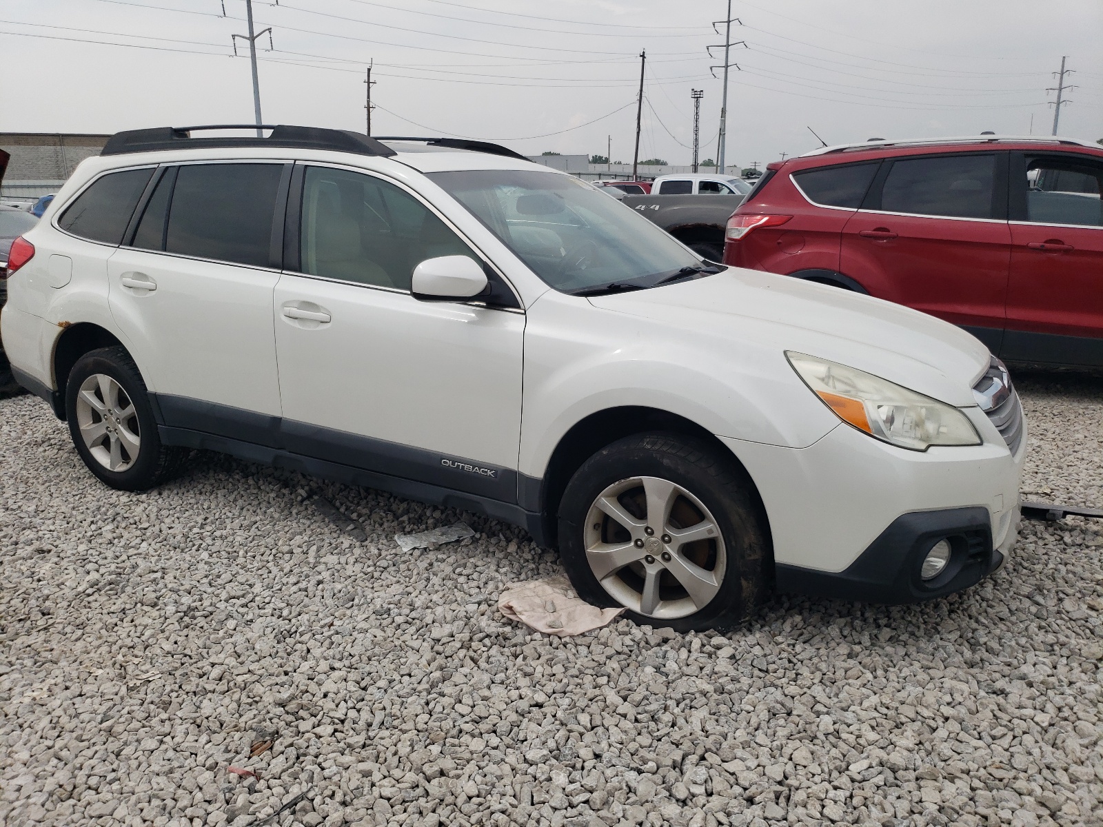
POLYGON ((0 149, 11 154, 0 194, 38 198, 57 192, 77 164, 98 155, 109 135, 0 132, 0 149))

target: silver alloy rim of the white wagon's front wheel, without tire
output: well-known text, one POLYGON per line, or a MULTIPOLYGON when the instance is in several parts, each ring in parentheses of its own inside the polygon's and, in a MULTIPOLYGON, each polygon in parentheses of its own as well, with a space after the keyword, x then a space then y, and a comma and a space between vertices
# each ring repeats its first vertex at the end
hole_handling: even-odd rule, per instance
POLYGON ((689 491, 656 476, 613 483, 590 506, 586 558, 621 605, 658 620, 704 609, 724 582, 716 519, 689 491))

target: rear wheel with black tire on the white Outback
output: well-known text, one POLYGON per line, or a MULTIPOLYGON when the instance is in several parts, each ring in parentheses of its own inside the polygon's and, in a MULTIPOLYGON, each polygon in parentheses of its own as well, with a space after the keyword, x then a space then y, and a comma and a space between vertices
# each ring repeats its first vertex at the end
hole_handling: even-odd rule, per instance
POLYGON ((161 444, 146 383, 120 345, 77 359, 65 387, 65 415, 84 464, 113 488, 152 488, 183 460, 182 449, 161 444))

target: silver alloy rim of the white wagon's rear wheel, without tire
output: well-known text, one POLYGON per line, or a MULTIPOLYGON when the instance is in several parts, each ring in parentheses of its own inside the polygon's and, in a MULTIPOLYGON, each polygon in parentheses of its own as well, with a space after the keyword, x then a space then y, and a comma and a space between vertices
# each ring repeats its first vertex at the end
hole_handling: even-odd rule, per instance
POLYGON ((122 472, 141 450, 138 411, 114 378, 93 374, 81 384, 76 419, 88 453, 108 471, 122 472))

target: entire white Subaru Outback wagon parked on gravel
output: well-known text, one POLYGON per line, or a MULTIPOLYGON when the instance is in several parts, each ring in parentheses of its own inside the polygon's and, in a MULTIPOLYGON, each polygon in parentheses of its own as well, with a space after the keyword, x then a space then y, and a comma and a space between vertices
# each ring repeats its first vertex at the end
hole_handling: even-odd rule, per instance
POLYGON ((502 147, 267 130, 120 132, 12 247, 12 369, 106 484, 201 448, 489 514, 681 630, 1006 559, 1026 425, 967 333, 502 147))

